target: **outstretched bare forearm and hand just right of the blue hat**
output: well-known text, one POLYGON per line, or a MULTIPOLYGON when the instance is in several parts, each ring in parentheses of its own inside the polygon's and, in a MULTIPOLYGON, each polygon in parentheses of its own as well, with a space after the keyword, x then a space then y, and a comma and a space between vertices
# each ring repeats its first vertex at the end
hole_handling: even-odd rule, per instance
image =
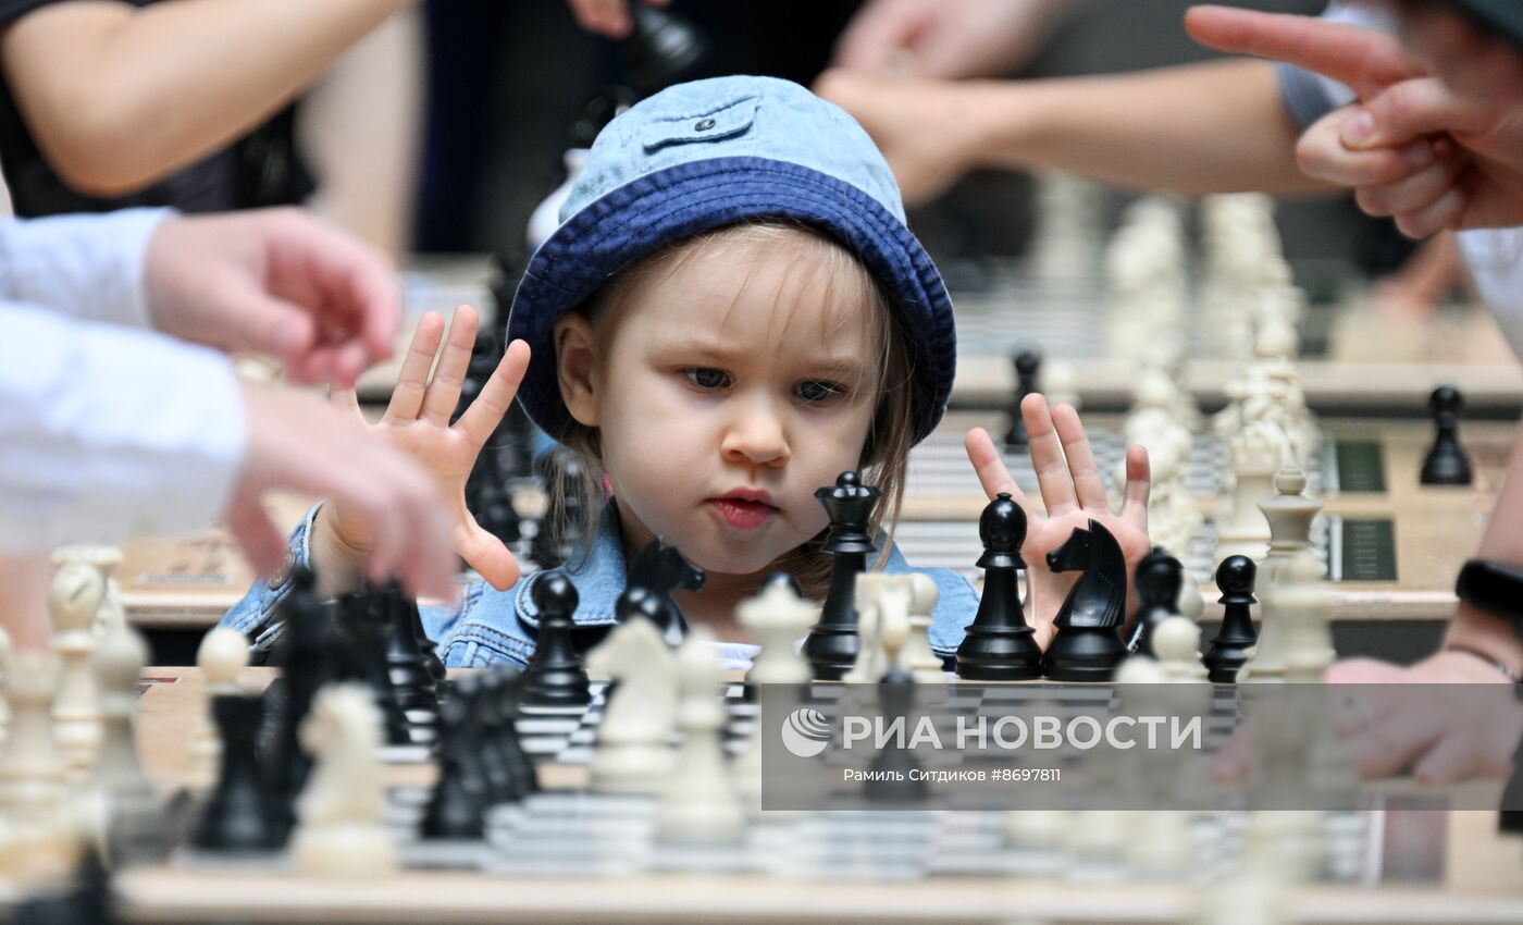
POLYGON ((1191 195, 1331 189, 1296 168, 1273 66, 1232 59, 1049 81, 938 81, 827 72, 911 203, 978 168, 1051 168, 1191 195))

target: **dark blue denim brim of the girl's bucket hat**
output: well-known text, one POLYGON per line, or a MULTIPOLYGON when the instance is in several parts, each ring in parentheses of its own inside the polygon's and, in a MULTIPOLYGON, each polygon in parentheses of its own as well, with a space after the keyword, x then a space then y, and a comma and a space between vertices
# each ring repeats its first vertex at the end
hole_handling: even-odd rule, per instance
POLYGON ((530 419, 550 434, 568 422, 551 337, 562 312, 664 244, 763 216, 833 235, 877 277, 915 346, 914 439, 929 436, 946 411, 956 369, 952 299, 931 254, 860 189, 763 157, 694 160, 637 177, 568 218, 535 251, 507 325, 509 337, 533 352, 518 390, 530 419))

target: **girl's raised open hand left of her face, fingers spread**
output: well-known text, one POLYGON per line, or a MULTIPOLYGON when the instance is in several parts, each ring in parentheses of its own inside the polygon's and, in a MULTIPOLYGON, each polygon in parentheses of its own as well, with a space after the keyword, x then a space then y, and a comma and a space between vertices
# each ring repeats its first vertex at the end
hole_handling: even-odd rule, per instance
MULTIPOLYGON (((477 311, 469 305, 455 309, 445 350, 429 378, 428 369, 434 366, 445 318, 431 311, 419 320, 391 392, 391 404, 373 427, 434 477, 449 512, 449 539, 455 552, 501 591, 518 581, 518 561, 501 539, 481 529, 471 515, 466 507, 466 479, 524 379, 528 344, 515 340, 507 346, 501 363, 481 387, 481 395, 451 425, 449 416, 460 401, 475 346, 477 322, 477 311)), ((335 389, 332 401, 362 421, 353 389, 335 389)), ((370 547, 372 538, 364 526, 341 506, 324 504, 321 517, 326 517, 327 526, 344 546, 353 550, 370 547)))

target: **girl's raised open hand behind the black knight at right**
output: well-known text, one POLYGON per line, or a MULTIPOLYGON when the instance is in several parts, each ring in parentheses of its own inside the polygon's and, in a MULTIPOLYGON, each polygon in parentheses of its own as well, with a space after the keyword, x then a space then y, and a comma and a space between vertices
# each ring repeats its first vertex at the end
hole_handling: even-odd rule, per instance
MULTIPOLYGON (((1028 395, 1020 402, 1020 416, 1027 422, 1031 465, 1042 489, 1045 517, 1016 485, 987 430, 975 427, 967 433, 967 459, 973 463, 973 471, 978 472, 978 480, 990 500, 999 492, 1010 492, 1027 512, 1027 543, 1020 547, 1030 582, 1027 617, 1036 629, 1037 643, 1045 649, 1052 639, 1052 619, 1078 581, 1077 573, 1051 571, 1046 555, 1062 546, 1074 527, 1087 529, 1089 521, 1095 520, 1121 544, 1127 570, 1135 570, 1150 549, 1147 535, 1150 475, 1147 450, 1130 446, 1125 498, 1121 514, 1112 514, 1106 498, 1106 483, 1095 465, 1095 453, 1089 446, 1089 437, 1084 436, 1078 411, 1069 405, 1049 410, 1046 398, 1028 395)), ((1135 610, 1136 590, 1129 582, 1127 613, 1132 614, 1135 610)))

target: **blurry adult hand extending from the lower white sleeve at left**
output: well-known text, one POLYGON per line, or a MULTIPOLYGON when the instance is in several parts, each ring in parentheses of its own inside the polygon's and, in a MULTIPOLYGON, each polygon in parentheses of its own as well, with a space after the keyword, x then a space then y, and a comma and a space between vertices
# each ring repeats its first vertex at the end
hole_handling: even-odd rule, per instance
POLYGON ((311 395, 254 382, 242 389, 248 450, 225 521, 260 575, 279 571, 286 555, 260 498, 295 491, 332 498, 362 524, 372 538, 370 578, 399 575, 414 594, 454 596, 455 562, 428 472, 311 395))

